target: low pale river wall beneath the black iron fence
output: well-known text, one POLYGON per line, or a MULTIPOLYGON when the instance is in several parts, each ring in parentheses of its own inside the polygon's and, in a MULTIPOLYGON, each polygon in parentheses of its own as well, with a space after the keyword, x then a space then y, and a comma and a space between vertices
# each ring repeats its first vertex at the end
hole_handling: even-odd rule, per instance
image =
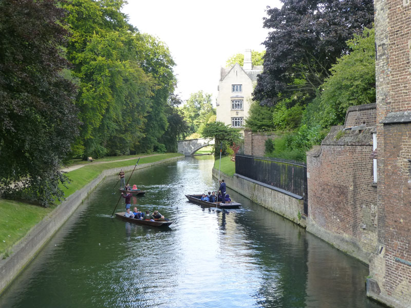
MULTIPOLYGON (((215 178, 218 177, 218 170, 215 168, 213 168, 213 176, 215 178)), ((303 200, 295 199, 282 192, 269 188, 268 185, 260 185, 256 181, 251 181, 237 175, 229 177, 220 172, 220 179, 224 179, 228 188, 237 191, 242 196, 247 197, 253 202, 258 203, 303 227, 306 226, 303 217, 303 200), (298 213, 300 213, 300 215, 298 215, 298 213)))

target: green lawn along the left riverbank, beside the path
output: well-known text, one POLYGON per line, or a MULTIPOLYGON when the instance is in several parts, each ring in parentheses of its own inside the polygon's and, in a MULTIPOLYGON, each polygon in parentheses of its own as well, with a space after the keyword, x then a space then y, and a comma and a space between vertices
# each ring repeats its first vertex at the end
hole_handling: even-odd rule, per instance
MULTIPOLYGON (((140 159, 139 165, 177 156, 181 156, 181 154, 165 153, 143 157, 140 159)), ((65 196, 68 197, 73 192, 84 187, 91 180, 98 177, 103 170, 134 165, 137 159, 135 159, 135 156, 132 157, 133 159, 128 161, 119 162, 111 159, 113 161, 111 163, 94 164, 92 162, 84 167, 68 172, 67 176, 70 179, 70 184, 67 185, 68 188, 63 188, 65 196)), ((107 158, 107 161, 110 161, 110 158, 107 158)), ((0 213, 2 213, 0 215, 0 258, 6 258, 11 254, 11 247, 20 241, 36 223, 39 223, 54 208, 55 205, 44 208, 28 203, 0 199, 0 213)))

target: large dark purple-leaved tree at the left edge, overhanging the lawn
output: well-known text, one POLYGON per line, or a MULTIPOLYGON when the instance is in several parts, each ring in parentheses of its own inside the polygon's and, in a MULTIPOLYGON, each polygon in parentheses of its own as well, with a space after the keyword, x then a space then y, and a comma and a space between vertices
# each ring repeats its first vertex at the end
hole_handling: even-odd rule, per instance
POLYGON ((65 11, 57 5, 0 2, 0 190, 24 191, 45 206, 63 196, 60 165, 79 124, 76 88, 65 78, 65 11))

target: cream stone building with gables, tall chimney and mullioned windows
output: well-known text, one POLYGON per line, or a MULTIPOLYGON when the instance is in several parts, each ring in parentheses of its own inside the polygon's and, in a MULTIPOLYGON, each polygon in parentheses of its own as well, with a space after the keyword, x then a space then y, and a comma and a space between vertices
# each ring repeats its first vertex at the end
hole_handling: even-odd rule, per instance
POLYGON ((231 127, 244 127, 251 105, 251 93, 257 82, 257 75, 263 66, 253 66, 251 50, 244 54, 244 66, 236 63, 230 68, 221 67, 217 94, 217 121, 231 127))

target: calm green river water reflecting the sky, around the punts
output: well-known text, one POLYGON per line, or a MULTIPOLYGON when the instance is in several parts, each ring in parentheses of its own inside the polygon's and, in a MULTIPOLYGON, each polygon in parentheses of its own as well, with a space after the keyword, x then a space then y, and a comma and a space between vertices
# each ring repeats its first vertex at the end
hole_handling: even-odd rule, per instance
MULTIPOLYGON (((202 210, 184 194, 216 190, 209 156, 136 171, 140 209, 168 229, 110 218, 116 177, 85 200, 0 298, 0 307, 380 307, 367 267, 228 189, 242 203, 202 210)), ((123 210, 124 199, 118 210, 123 210)))

